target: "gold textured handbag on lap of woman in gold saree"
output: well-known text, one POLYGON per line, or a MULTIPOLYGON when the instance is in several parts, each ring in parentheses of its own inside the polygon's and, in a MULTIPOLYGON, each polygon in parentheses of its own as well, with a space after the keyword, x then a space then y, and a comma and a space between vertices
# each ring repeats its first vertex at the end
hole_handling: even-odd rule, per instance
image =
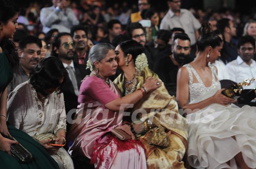
POLYGON ((146 133, 145 137, 146 137, 146 142, 154 146, 166 148, 170 144, 170 140, 167 137, 167 134, 165 133, 164 128, 162 127, 157 127, 149 130, 146 133))

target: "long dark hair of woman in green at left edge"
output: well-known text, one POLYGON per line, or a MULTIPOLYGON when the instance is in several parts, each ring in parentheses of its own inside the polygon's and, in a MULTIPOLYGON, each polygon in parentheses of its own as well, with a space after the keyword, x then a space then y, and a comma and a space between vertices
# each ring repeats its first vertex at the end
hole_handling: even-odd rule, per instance
MULTIPOLYGON (((0 22, 7 24, 9 19, 14 17, 20 11, 18 5, 11 0, 0 0, 0 22)), ((15 51, 15 45, 7 37, 0 42, 1 48, 4 50, 9 62, 12 66, 16 66, 20 62, 20 58, 15 51)))

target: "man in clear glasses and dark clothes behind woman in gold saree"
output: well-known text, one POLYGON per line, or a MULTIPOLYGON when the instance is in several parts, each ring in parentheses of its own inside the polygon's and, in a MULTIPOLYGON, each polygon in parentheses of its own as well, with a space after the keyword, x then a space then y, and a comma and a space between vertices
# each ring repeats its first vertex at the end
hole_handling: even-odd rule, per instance
POLYGON ((145 48, 145 54, 148 59, 149 69, 153 70, 155 60, 158 57, 158 50, 156 50, 153 46, 146 44, 146 30, 145 28, 138 22, 131 23, 128 27, 128 35, 132 40, 139 42, 145 48))

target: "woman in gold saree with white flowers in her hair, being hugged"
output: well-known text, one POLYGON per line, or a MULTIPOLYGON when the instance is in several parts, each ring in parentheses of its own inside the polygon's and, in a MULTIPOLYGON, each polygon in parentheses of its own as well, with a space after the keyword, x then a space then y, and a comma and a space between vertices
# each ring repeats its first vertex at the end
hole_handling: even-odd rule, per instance
MULTIPOLYGON (((123 73, 114 84, 122 96, 143 87, 149 76, 159 79, 148 68, 143 51, 143 46, 134 40, 122 42, 116 47, 118 68, 123 73)), ((130 116, 124 117, 125 121, 132 125, 135 135, 145 147, 149 169, 185 168, 182 158, 187 147, 187 123, 178 113, 174 96, 169 95, 163 84, 154 92, 147 93, 126 112, 130 112, 130 116), (134 116, 136 113, 137 116, 134 116)))

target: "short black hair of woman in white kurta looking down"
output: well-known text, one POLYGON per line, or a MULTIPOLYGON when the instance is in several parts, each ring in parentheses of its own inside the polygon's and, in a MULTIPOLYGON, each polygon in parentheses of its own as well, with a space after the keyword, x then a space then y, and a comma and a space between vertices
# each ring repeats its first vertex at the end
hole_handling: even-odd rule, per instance
POLYGON ((48 57, 30 71, 30 84, 37 92, 47 95, 45 90, 60 87, 59 79, 67 75, 68 71, 59 58, 48 57))

